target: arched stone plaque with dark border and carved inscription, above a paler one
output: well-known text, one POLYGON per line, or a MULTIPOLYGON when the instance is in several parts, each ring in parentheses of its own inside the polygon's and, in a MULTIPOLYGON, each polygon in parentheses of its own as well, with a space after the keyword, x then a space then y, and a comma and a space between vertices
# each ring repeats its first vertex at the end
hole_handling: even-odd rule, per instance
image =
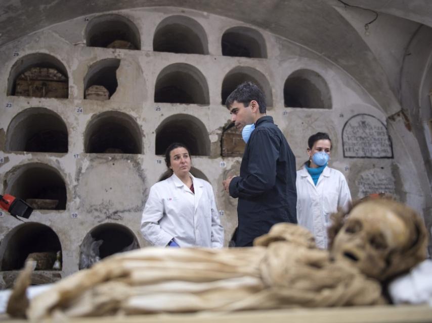
POLYGON ((348 158, 393 158, 387 128, 376 117, 359 114, 342 129, 343 156, 348 158))

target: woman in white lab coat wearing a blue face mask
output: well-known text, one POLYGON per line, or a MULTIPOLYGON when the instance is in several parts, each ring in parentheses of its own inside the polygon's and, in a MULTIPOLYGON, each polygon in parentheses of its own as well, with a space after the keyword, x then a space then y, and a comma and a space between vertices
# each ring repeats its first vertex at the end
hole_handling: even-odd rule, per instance
POLYGON ((318 132, 308 140, 309 160, 297 171, 297 221, 315 236, 319 248, 327 249, 330 214, 351 204, 347 180, 327 166, 331 154, 328 134, 318 132))

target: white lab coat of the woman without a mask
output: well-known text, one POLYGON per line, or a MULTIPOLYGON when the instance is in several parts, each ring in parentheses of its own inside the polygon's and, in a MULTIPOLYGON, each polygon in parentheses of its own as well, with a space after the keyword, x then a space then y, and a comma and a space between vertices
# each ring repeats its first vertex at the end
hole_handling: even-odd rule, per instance
POLYGON ((176 176, 154 184, 141 219, 144 238, 166 246, 172 238, 180 247, 221 248, 224 228, 210 183, 193 177, 195 194, 176 176))

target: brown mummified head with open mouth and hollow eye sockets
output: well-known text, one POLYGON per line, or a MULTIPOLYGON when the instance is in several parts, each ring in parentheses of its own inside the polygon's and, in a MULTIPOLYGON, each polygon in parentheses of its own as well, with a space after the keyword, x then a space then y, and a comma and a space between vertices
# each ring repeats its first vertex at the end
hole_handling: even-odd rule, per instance
POLYGON ((384 281, 423 260, 425 246, 422 219, 401 203, 380 199, 353 207, 332 241, 330 253, 384 281))

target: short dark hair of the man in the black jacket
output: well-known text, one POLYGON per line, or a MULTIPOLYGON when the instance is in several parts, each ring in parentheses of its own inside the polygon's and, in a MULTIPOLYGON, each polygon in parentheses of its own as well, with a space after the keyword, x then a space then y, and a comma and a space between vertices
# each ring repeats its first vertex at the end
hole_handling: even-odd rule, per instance
POLYGON ((266 96, 263 91, 252 82, 241 83, 237 88, 228 95, 225 105, 230 110, 234 101, 243 103, 244 107, 248 106, 250 101, 255 100, 260 106, 260 113, 266 113, 266 96))

